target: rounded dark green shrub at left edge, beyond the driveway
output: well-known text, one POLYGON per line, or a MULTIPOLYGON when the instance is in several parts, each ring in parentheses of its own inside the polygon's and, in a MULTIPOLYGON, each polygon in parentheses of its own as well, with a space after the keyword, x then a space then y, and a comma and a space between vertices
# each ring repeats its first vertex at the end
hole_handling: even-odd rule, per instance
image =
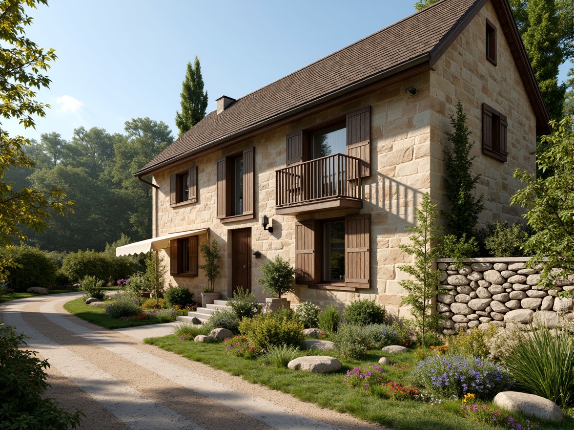
POLYGON ((28 245, 2 248, 2 258, 12 260, 15 266, 7 264, 9 288, 22 293, 30 287, 51 288, 56 282, 58 266, 48 253, 28 245), (16 267, 20 266, 20 267, 16 267))

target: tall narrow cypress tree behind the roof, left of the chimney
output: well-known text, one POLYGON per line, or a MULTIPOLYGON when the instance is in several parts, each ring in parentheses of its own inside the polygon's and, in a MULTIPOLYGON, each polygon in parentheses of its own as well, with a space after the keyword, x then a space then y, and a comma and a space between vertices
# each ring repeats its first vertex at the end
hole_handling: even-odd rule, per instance
POLYGON ((205 116, 207 109, 207 91, 203 92, 203 78, 199 58, 193 65, 187 63, 187 73, 181 88, 181 113, 176 112, 176 125, 180 136, 191 129, 205 116))

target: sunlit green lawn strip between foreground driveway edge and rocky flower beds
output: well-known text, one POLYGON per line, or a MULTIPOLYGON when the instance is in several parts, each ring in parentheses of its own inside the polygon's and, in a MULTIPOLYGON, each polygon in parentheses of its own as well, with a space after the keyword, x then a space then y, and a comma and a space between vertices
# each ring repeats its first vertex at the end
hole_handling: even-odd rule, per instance
MULTIPOLYGON (((364 361, 341 360, 343 368, 332 374, 312 374, 304 371, 293 371, 285 368, 263 366, 258 360, 247 360, 225 353, 222 344, 196 343, 183 341, 176 336, 153 337, 145 343, 156 345, 167 351, 183 355, 185 358, 209 364, 225 370, 232 375, 240 375, 249 382, 266 385, 283 393, 290 393, 302 401, 313 402, 323 408, 347 412, 363 420, 375 421, 390 427, 405 430, 478 430, 490 429, 490 425, 472 422, 460 415, 460 401, 449 401, 441 405, 430 406, 416 401, 385 400, 367 395, 364 391, 350 389, 344 382, 347 370, 367 363, 378 363, 379 351, 369 351, 364 361)), ((331 351, 327 354, 333 354, 331 351)), ((393 355, 392 362, 397 367, 409 364, 404 370, 392 366, 382 366, 387 370, 390 381, 409 384, 410 370, 418 359, 414 352, 393 355)), ((482 402, 480 402, 482 403, 482 402)), ((488 404, 488 403, 487 403, 488 404)), ((491 404, 488 404, 491 406, 491 404)), ((495 408, 498 409, 498 408, 495 408)), ((512 416, 519 423, 526 420, 517 413, 512 416)), ((500 428, 500 427, 499 427, 500 428)), ((561 424, 544 423, 541 429, 571 430, 574 420, 565 419, 561 424)))

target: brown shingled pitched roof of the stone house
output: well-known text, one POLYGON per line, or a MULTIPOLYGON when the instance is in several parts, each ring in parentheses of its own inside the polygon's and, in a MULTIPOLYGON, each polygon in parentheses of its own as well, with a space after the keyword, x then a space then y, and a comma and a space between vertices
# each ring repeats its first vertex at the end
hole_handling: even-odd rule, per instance
POLYGON ((432 65, 484 3, 486 0, 439 1, 247 94, 222 113, 207 114, 136 175, 150 174, 195 152, 276 121, 283 114, 312 106, 352 87, 367 85, 401 68, 425 62, 432 65))

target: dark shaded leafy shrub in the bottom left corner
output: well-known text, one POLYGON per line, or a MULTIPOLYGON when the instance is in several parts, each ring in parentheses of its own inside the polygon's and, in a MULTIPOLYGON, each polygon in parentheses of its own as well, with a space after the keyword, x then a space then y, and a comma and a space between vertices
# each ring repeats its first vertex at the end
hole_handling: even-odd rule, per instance
POLYGON ((13 327, 0 324, 0 423, 5 429, 60 430, 76 428, 80 416, 68 413, 51 398, 43 398, 48 389, 45 368, 48 360, 35 352, 21 349, 25 335, 16 335, 13 327), (68 427, 69 426, 69 427, 68 427))

